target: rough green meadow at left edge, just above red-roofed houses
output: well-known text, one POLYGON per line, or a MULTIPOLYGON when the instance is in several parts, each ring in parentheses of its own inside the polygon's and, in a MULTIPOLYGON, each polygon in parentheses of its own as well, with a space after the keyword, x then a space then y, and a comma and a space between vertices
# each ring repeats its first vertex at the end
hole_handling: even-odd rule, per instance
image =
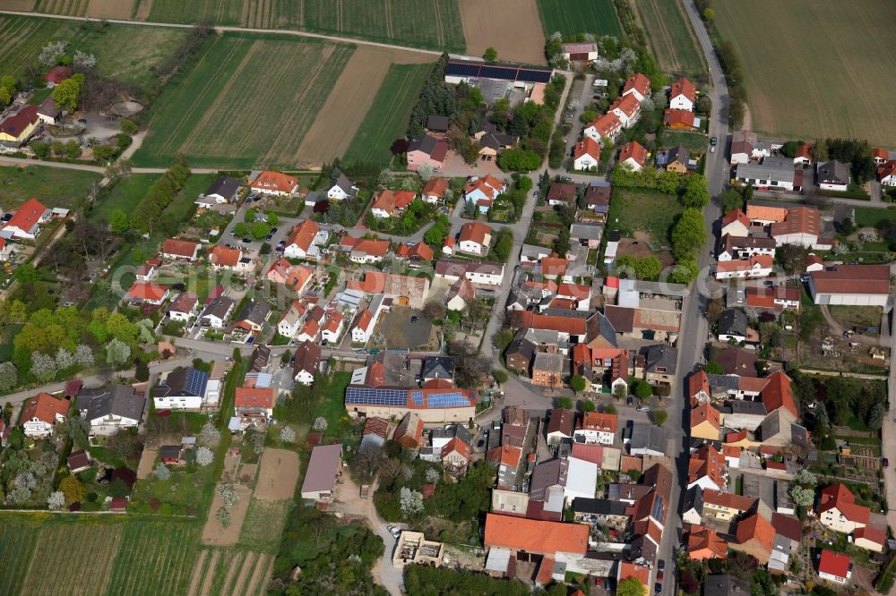
POLYGON ((71 209, 101 176, 61 167, 0 166, 0 209, 15 209, 31 197, 49 208, 71 209))

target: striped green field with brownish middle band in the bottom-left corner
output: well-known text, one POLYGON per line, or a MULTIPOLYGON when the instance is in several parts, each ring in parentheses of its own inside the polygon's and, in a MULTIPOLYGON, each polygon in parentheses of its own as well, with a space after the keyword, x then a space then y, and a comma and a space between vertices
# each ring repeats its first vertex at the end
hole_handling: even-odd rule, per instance
POLYGON ((198 539, 193 520, 3 514, 0 593, 184 594, 198 539))

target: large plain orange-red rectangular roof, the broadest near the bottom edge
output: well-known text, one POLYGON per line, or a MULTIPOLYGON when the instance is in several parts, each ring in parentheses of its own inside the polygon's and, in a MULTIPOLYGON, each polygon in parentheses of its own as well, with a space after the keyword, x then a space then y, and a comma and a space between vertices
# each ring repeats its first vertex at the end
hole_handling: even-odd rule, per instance
POLYGON ((588 550, 588 534, 589 527, 583 524, 544 522, 511 515, 486 515, 487 547, 544 554, 569 552, 584 555, 588 550))

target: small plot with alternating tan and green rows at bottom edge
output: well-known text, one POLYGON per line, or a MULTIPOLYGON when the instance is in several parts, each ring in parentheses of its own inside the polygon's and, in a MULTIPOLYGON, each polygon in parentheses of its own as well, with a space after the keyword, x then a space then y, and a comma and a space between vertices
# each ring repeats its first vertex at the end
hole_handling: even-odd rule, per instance
POLYGON ((239 549, 202 549, 185 592, 263 596, 273 570, 272 555, 239 549))

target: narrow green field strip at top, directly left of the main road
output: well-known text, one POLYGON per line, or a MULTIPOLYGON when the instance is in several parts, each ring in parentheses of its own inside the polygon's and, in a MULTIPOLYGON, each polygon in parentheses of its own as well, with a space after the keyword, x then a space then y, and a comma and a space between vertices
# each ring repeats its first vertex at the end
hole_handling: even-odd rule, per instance
POLYGON ((650 49, 665 72, 705 77, 706 65, 679 0, 635 0, 650 49))

